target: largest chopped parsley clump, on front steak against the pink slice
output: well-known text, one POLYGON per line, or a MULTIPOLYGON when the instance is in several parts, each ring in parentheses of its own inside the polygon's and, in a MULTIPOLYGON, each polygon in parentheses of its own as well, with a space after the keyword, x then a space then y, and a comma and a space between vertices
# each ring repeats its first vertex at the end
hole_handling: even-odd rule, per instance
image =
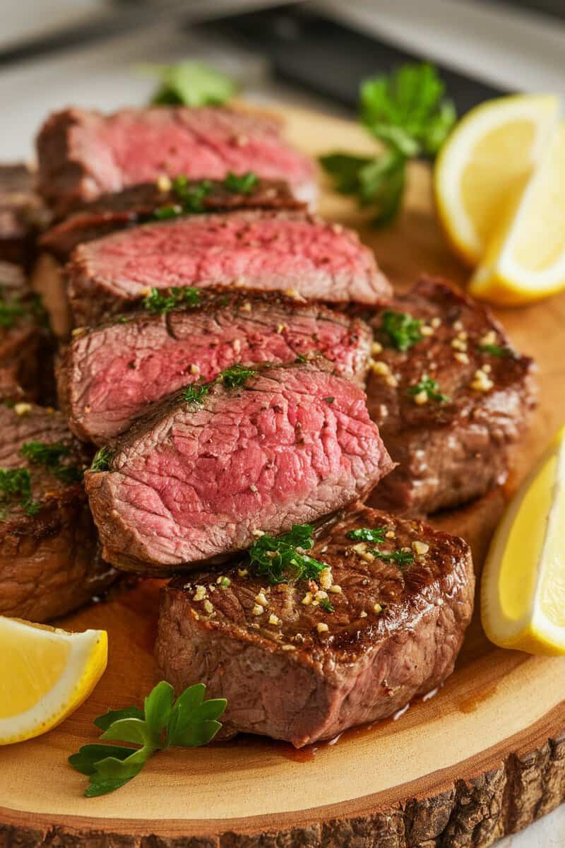
POLYGON ((271 536, 265 533, 249 550, 249 566, 257 577, 269 583, 286 583, 287 580, 315 579, 324 571, 324 562, 314 560, 306 551, 313 547, 313 527, 310 524, 293 524, 289 533, 271 536))

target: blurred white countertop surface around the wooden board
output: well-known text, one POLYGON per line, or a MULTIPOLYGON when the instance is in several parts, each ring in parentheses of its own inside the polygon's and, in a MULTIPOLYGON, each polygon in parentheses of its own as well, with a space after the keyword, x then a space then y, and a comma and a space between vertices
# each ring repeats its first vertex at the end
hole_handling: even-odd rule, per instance
MULTIPOLYGON (((335 0, 340 14, 383 35, 395 36, 406 46, 418 44, 431 59, 452 62, 462 70, 480 67, 485 78, 525 90, 555 91, 565 98, 565 26, 540 23, 520 15, 508 24, 500 11, 463 0, 391 0, 381 3, 335 0)), ((69 21, 65 14, 88 14, 95 0, 3 0, 0 46, 14 31, 36 31, 41 16, 46 25, 69 21), (80 13, 77 7, 80 6, 80 13), (34 25, 26 22, 35 16, 34 25)), ((80 51, 52 55, 36 62, 0 68, 0 161, 29 159, 37 127, 53 109, 70 104, 116 109, 145 103, 154 83, 136 73, 136 64, 204 59, 245 82, 246 94, 257 102, 291 101, 339 111, 327 102, 293 92, 269 81, 261 59, 223 45, 196 40, 167 21, 149 31, 97 42, 80 51)), ((563 848, 565 806, 535 823, 523 834, 502 840, 500 848, 563 848)))

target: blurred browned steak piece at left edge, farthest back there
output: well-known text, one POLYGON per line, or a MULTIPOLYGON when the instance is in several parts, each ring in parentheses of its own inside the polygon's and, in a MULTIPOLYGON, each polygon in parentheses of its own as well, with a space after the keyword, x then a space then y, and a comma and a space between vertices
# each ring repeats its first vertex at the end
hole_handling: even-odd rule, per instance
POLYGON ((45 221, 31 171, 26 165, 0 165, 0 261, 29 265, 45 221))

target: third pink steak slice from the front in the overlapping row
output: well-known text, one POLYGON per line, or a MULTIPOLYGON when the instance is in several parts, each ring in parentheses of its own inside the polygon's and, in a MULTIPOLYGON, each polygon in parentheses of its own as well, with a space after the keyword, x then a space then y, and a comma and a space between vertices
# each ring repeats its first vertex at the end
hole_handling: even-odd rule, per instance
POLYGON ((240 287, 378 305, 391 288, 357 233, 302 212, 192 215, 76 248, 67 266, 75 326, 123 312, 151 287, 240 287))

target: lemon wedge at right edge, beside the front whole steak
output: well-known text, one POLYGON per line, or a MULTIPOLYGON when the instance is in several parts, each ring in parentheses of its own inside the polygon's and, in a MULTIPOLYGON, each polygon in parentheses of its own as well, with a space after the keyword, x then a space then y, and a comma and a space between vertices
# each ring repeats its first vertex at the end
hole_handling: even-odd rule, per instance
POLYGON ((565 427, 508 505, 481 582, 491 642, 565 654, 565 427))

